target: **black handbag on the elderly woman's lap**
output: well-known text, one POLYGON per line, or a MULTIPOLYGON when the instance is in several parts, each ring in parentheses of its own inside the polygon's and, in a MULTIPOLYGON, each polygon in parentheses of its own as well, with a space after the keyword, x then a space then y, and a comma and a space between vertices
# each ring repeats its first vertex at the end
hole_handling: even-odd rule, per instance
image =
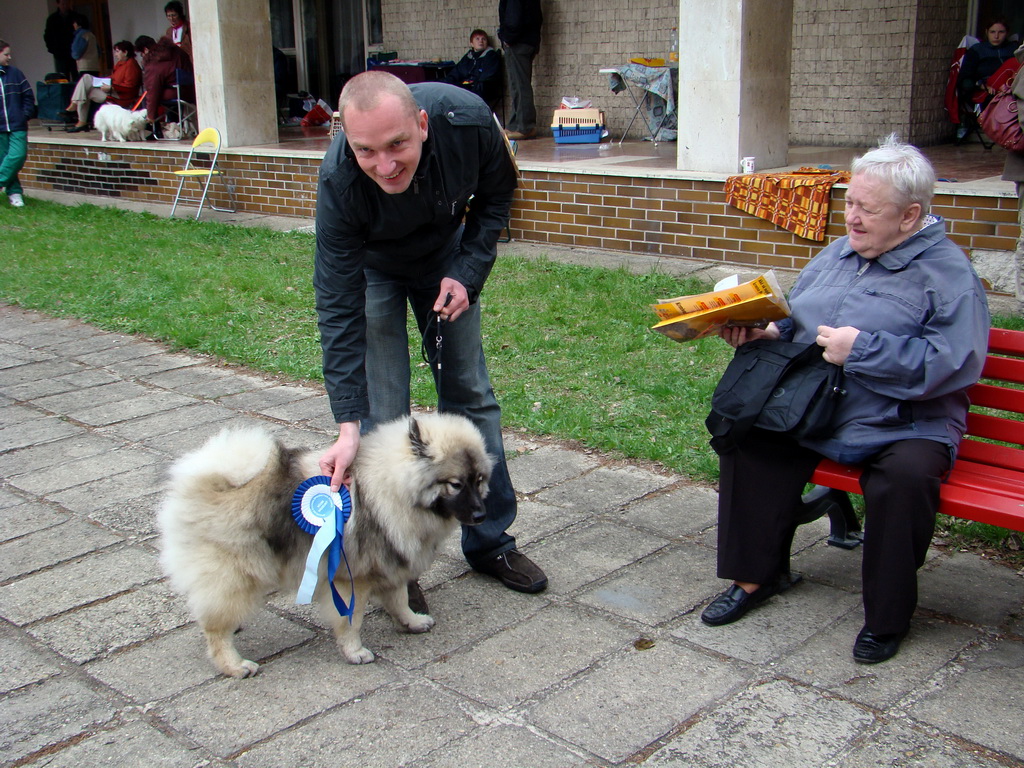
POLYGON ((751 427, 823 437, 842 397, 843 367, 826 362, 817 344, 756 339, 736 348, 705 420, 719 455, 735 449, 751 427))

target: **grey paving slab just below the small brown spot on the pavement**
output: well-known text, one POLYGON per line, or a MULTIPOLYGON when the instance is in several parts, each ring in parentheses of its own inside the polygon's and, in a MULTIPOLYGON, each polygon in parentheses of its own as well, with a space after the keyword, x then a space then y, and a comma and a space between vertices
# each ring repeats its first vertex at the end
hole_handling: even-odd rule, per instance
POLYGON ((609 763, 620 763, 674 731, 748 677, 721 658, 672 641, 629 646, 527 708, 524 717, 609 763), (678 677, 687 671, 687 681, 678 677), (572 717, 566 717, 572 713, 572 717), (624 717, 633 713, 634 717, 624 717))

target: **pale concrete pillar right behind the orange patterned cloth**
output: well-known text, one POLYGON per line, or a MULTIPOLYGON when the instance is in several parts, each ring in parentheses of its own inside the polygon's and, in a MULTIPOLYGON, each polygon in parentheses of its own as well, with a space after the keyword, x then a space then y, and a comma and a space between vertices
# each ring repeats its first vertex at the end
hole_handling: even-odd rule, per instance
POLYGON ((793 0, 680 0, 677 165, 787 164, 793 0))

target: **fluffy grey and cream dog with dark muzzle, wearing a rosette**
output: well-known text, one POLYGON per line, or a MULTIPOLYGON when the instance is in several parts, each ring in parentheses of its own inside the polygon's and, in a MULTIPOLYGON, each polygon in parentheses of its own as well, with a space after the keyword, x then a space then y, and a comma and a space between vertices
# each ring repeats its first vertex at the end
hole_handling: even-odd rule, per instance
MULTIPOLYGON (((260 429, 225 430, 171 467, 158 518, 161 563, 188 598, 210 658, 225 675, 256 673, 259 665, 236 649, 234 633, 269 593, 294 591, 302 580, 313 537, 293 519, 292 497, 322 474, 321 453, 288 449, 260 429)), ((410 609, 408 583, 455 528, 483 520, 493 466, 482 435, 462 416, 417 415, 364 435, 343 537, 352 581, 344 562, 334 580, 345 601, 354 589, 351 622, 332 600, 327 557, 313 594, 350 664, 374 660, 359 639, 371 597, 408 632, 434 626, 410 609)))

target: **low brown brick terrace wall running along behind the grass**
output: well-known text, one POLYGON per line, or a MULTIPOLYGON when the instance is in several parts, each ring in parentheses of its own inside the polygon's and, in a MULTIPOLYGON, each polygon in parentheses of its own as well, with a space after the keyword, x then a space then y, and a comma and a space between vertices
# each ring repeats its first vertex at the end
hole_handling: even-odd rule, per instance
MULTIPOLYGON (((22 181, 33 188, 170 204, 173 171, 183 147, 132 147, 34 141, 22 181)), ((318 157, 274 157, 227 151, 223 169, 236 184, 239 209, 312 217, 318 157)), ((581 172, 523 170, 512 209, 517 240, 600 248, 667 258, 698 258, 754 267, 800 268, 823 244, 797 236, 733 208, 723 181, 643 178, 581 172)), ((842 187, 833 188, 826 241, 844 233, 842 187)), ((223 198, 215 200, 220 204, 223 198)), ((939 194, 934 210, 969 253, 1016 249, 1017 200, 939 194)))

